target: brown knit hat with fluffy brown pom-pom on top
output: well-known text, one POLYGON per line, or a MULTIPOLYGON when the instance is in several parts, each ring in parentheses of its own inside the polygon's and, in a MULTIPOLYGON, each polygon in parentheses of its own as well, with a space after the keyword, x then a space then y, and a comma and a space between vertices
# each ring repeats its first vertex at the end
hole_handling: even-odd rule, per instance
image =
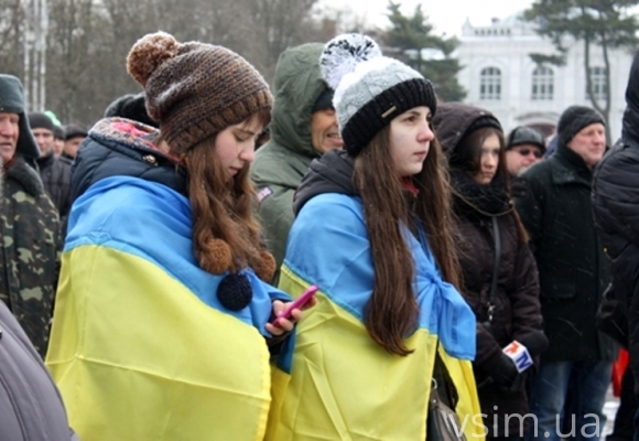
POLYGON ((181 44, 148 34, 131 47, 129 74, 144 87, 149 116, 174 153, 239 123, 273 98, 260 73, 235 52, 212 44, 181 44))

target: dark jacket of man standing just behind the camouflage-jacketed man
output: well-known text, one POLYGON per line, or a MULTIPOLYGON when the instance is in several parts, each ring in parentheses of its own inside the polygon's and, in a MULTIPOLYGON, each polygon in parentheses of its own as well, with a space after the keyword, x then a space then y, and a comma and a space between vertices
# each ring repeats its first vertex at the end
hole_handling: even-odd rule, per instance
POLYGON ((57 208, 61 218, 71 211, 71 164, 53 154, 53 152, 37 158, 40 178, 44 190, 57 208))

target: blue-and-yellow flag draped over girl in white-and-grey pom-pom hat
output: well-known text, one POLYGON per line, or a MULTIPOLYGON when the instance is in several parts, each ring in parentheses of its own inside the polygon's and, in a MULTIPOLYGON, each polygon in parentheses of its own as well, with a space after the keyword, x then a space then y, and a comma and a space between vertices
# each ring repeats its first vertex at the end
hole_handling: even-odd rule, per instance
POLYGON ((297 325, 290 363, 274 369, 268 440, 424 440, 437 347, 459 396, 465 434, 484 438, 472 368, 475 315, 442 280, 427 246, 404 233, 420 315, 407 338, 414 352, 402 357, 379 346, 362 323, 375 269, 361 200, 322 193, 300 211, 280 288, 296 297, 315 283, 318 302, 297 325))

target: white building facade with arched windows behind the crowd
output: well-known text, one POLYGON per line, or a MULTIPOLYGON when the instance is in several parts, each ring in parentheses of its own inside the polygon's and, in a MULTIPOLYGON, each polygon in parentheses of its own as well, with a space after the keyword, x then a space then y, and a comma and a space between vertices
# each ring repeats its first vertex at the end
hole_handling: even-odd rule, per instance
MULTIPOLYGON (((462 28, 457 57, 463 69, 457 78, 467 90, 467 104, 486 108, 500 120, 506 133, 517 126, 530 126, 550 136, 562 111, 572 105, 592 106, 586 94, 584 44, 566 44, 563 66, 537 65, 531 53, 554 55, 552 42, 534 32, 534 24, 519 14, 494 20, 488 26, 462 28)), ((610 136, 621 133, 625 93, 633 54, 610 50, 610 136)), ((595 94, 605 98, 605 64, 602 50, 591 47, 591 72, 595 94)), ((604 103, 599 101, 602 107, 604 103)))

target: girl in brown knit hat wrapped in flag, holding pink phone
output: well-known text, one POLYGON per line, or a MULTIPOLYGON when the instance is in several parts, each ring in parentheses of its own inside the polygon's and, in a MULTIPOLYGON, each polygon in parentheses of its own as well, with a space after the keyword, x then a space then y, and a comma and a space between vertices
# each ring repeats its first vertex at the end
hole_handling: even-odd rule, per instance
POLYGON ((271 94, 238 54, 163 32, 127 63, 160 129, 102 119, 78 151, 46 363, 82 439, 262 439, 269 346, 286 359, 302 314, 269 323, 290 298, 251 215, 271 94))

